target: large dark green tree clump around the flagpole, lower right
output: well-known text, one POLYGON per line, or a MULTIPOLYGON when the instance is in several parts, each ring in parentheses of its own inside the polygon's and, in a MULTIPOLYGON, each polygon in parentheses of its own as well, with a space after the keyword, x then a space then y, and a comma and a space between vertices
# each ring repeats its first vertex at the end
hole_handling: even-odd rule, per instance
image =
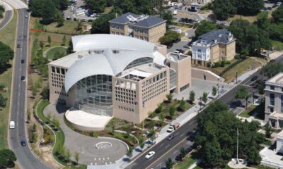
POLYGON ((215 101, 197 115, 195 143, 201 147, 200 158, 204 165, 222 167, 236 157, 237 128, 239 158, 250 164, 260 163, 258 151, 264 136, 257 132, 258 123, 242 123, 226 104, 215 101))

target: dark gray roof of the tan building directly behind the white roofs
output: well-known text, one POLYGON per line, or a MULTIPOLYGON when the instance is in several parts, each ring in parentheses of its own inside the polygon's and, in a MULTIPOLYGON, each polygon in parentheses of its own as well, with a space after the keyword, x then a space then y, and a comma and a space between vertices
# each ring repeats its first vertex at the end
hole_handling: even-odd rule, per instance
POLYGON ((141 20, 137 23, 131 23, 129 19, 127 18, 128 15, 132 15, 134 18, 139 17, 139 15, 136 15, 134 13, 124 13, 123 15, 120 15, 117 18, 109 20, 109 22, 110 23, 120 23, 120 24, 130 23, 131 25, 137 26, 137 27, 153 27, 154 25, 166 23, 166 20, 163 20, 156 16, 149 16, 148 18, 141 20))

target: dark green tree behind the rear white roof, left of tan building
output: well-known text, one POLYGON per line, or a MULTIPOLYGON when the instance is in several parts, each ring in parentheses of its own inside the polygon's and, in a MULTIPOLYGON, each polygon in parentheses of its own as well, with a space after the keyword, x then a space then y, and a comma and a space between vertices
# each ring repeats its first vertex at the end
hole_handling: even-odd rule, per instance
POLYGON ((92 34, 109 34, 109 20, 115 18, 114 13, 100 15, 91 25, 92 34))

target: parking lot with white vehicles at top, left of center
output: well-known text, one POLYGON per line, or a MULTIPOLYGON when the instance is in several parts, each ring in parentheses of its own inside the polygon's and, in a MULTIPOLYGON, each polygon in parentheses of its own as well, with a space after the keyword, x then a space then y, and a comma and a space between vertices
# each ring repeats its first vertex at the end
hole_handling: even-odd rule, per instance
POLYGON ((67 10, 64 11, 64 17, 67 20, 74 20, 74 21, 82 21, 82 22, 92 22, 93 20, 96 20, 98 18, 98 15, 89 13, 84 7, 84 1, 83 0, 73 0, 70 1, 71 5, 68 6, 67 10))

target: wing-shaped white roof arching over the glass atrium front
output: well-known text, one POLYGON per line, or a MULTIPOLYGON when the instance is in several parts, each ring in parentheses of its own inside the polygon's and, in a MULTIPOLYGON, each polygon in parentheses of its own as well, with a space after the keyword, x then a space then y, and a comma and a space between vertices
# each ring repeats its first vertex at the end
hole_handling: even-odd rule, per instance
POLYGON ((79 80, 91 75, 117 75, 121 73, 129 63, 138 58, 153 58, 152 54, 144 51, 120 51, 113 54, 112 50, 106 49, 102 54, 84 56, 76 61, 65 75, 66 92, 79 80))

